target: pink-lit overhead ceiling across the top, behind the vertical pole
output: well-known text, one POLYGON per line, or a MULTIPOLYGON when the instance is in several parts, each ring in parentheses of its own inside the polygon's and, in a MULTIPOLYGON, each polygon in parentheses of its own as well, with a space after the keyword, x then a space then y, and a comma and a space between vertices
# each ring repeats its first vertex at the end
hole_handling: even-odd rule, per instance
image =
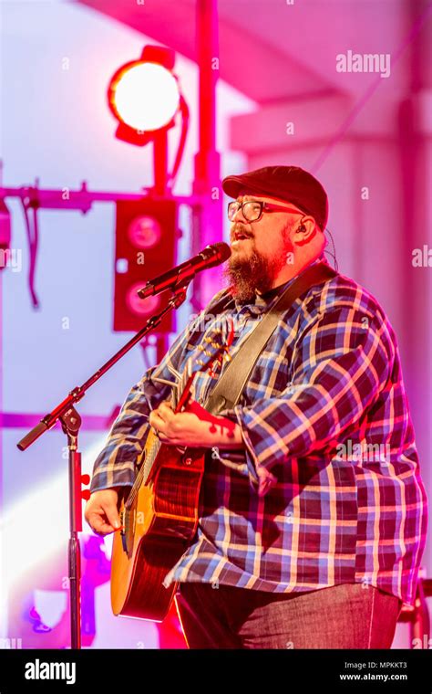
MULTIPOLYGON (((196 59, 195 0, 71 2, 196 59)), ((336 55, 390 53, 392 79, 383 79, 379 92, 388 97, 391 89, 397 99, 406 91, 410 48, 417 45, 410 30, 424 6, 424 0, 219 0, 221 79, 259 103, 317 93, 355 96, 375 75, 338 73, 336 55)))

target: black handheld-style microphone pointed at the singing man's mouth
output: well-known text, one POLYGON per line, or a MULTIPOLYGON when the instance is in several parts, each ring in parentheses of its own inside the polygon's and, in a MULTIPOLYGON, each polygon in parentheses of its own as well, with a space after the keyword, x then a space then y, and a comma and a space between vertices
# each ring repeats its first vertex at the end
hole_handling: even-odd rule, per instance
POLYGON ((180 263, 176 268, 164 272, 155 279, 150 279, 147 284, 137 292, 140 299, 153 297, 155 294, 160 294, 167 289, 176 289, 181 286, 184 281, 193 279, 197 272, 213 268, 215 265, 221 265, 231 256, 231 248, 228 244, 217 243, 211 246, 206 246, 198 256, 180 263))

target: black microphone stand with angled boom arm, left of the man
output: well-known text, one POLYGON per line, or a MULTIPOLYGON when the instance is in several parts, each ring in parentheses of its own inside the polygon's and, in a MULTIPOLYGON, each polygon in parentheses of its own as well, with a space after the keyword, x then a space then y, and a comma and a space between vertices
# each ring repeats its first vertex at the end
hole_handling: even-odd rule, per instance
MULTIPOLYGON (((195 273, 193 273, 193 276, 195 273)), ((93 373, 90 378, 82 385, 77 385, 62 403, 47 415, 45 415, 33 429, 31 429, 17 447, 26 450, 35 443, 36 439, 48 429, 51 429, 57 421, 60 421, 63 431, 67 436, 67 447, 69 450, 69 542, 67 547, 68 556, 68 579, 70 596, 70 640, 71 648, 81 648, 81 551, 79 546, 78 532, 82 531, 82 507, 81 499, 89 499, 89 489, 81 489, 82 484, 88 484, 88 475, 81 475, 81 453, 78 451, 78 433, 81 426, 81 417, 74 405, 86 394, 88 388, 95 384, 104 373, 114 366, 129 350, 142 340, 145 335, 154 330, 162 321, 165 314, 170 310, 178 309, 186 300, 186 290, 193 276, 187 278, 180 276, 177 283, 171 289, 172 296, 167 306, 155 313, 144 327, 129 340, 118 352, 116 352, 108 362, 93 373)))

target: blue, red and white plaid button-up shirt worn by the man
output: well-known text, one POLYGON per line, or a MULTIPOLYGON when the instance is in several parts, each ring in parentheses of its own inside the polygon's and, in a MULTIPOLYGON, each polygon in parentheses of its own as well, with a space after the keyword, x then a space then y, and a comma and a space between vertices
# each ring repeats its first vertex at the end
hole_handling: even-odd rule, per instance
MULTIPOLYGON (((204 338, 230 325, 234 356, 290 282, 254 303, 222 289, 190 321, 130 390, 91 491, 132 485, 149 412, 170 397, 164 382, 178 381, 204 338)), ((214 383, 200 373, 195 398, 203 403, 214 383)), ((342 275, 305 292, 283 313, 239 404, 221 415, 241 426, 245 449, 208 451, 198 531, 165 585, 291 593, 363 583, 413 604, 427 497, 396 336, 374 297, 342 275), (277 479, 263 497, 260 467, 277 479)))

